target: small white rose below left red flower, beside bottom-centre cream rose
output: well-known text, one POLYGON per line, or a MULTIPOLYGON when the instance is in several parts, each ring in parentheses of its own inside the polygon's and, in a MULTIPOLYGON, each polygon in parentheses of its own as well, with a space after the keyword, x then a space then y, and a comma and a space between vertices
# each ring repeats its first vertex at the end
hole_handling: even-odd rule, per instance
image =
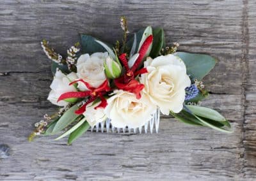
POLYGON ((90 126, 95 126, 98 122, 102 122, 106 119, 106 115, 104 113, 103 108, 98 108, 95 110, 95 107, 98 106, 99 103, 90 103, 86 106, 86 111, 83 113, 84 117, 86 118, 87 122, 90 124, 90 126))

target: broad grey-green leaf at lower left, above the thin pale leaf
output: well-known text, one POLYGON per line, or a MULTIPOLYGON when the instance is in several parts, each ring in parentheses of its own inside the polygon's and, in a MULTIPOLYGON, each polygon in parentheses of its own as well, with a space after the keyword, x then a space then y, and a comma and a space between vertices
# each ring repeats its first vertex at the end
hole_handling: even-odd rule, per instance
POLYGON ((78 105, 78 103, 76 105, 72 106, 69 110, 67 110, 67 112, 65 112, 60 117, 60 119, 54 126, 52 133, 58 133, 59 131, 61 131, 62 129, 67 127, 70 123, 72 123, 74 120, 76 120, 77 117, 80 116, 75 113, 75 111, 78 109, 77 105, 78 105))

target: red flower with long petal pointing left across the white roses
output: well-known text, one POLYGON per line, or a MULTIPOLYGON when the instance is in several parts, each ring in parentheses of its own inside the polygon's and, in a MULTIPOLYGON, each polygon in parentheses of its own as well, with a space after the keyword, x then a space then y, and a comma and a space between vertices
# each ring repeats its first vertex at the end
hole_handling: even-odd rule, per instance
POLYGON ((89 96, 88 100, 86 101, 86 103, 84 103, 83 106, 81 106, 81 108, 79 108, 78 110, 76 110, 76 114, 82 114, 86 111, 86 106, 89 103, 92 103, 93 101, 95 101, 95 99, 100 98, 101 103, 95 107, 95 109, 97 108, 105 108, 108 103, 106 101, 106 99, 104 98, 104 95, 107 94, 111 88, 108 85, 108 80, 105 80, 99 87, 95 88, 92 87, 88 82, 85 82, 82 79, 76 80, 74 82, 69 83, 69 85, 72 85, 74 83, 77 82, 83 82, 84 85, 90 89, 90 91, 83 91, 83 92, 66 92, 64 94, 61 94, 60 98, 58 99, 58 101, 61 101, 63 99, 68 99, 68 98, 86 98, 89 96))

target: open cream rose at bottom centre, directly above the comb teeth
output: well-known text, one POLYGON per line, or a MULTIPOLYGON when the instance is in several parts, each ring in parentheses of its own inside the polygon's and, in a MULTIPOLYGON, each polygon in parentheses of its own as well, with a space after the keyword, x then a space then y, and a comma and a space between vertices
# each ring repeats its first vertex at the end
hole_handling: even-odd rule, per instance
POLYGON ((115 127, 136 128, 143 126, 155 110, 156 106, 150 103, 147 95, 142 94, 140 99, 136 99, 133 93, 118 90, 108 98, 105 113, 115 127))

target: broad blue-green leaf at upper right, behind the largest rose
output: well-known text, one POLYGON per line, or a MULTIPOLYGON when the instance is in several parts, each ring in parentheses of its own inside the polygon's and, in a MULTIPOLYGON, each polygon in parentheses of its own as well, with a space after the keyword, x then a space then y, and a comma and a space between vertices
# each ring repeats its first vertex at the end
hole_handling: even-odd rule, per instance
POLYGON ((210 55, 205 54, 191 54, 187 52, 176 52, 186 64, 187 74, 191 79, 202 80, 216 64, 216 59, 210 55))

